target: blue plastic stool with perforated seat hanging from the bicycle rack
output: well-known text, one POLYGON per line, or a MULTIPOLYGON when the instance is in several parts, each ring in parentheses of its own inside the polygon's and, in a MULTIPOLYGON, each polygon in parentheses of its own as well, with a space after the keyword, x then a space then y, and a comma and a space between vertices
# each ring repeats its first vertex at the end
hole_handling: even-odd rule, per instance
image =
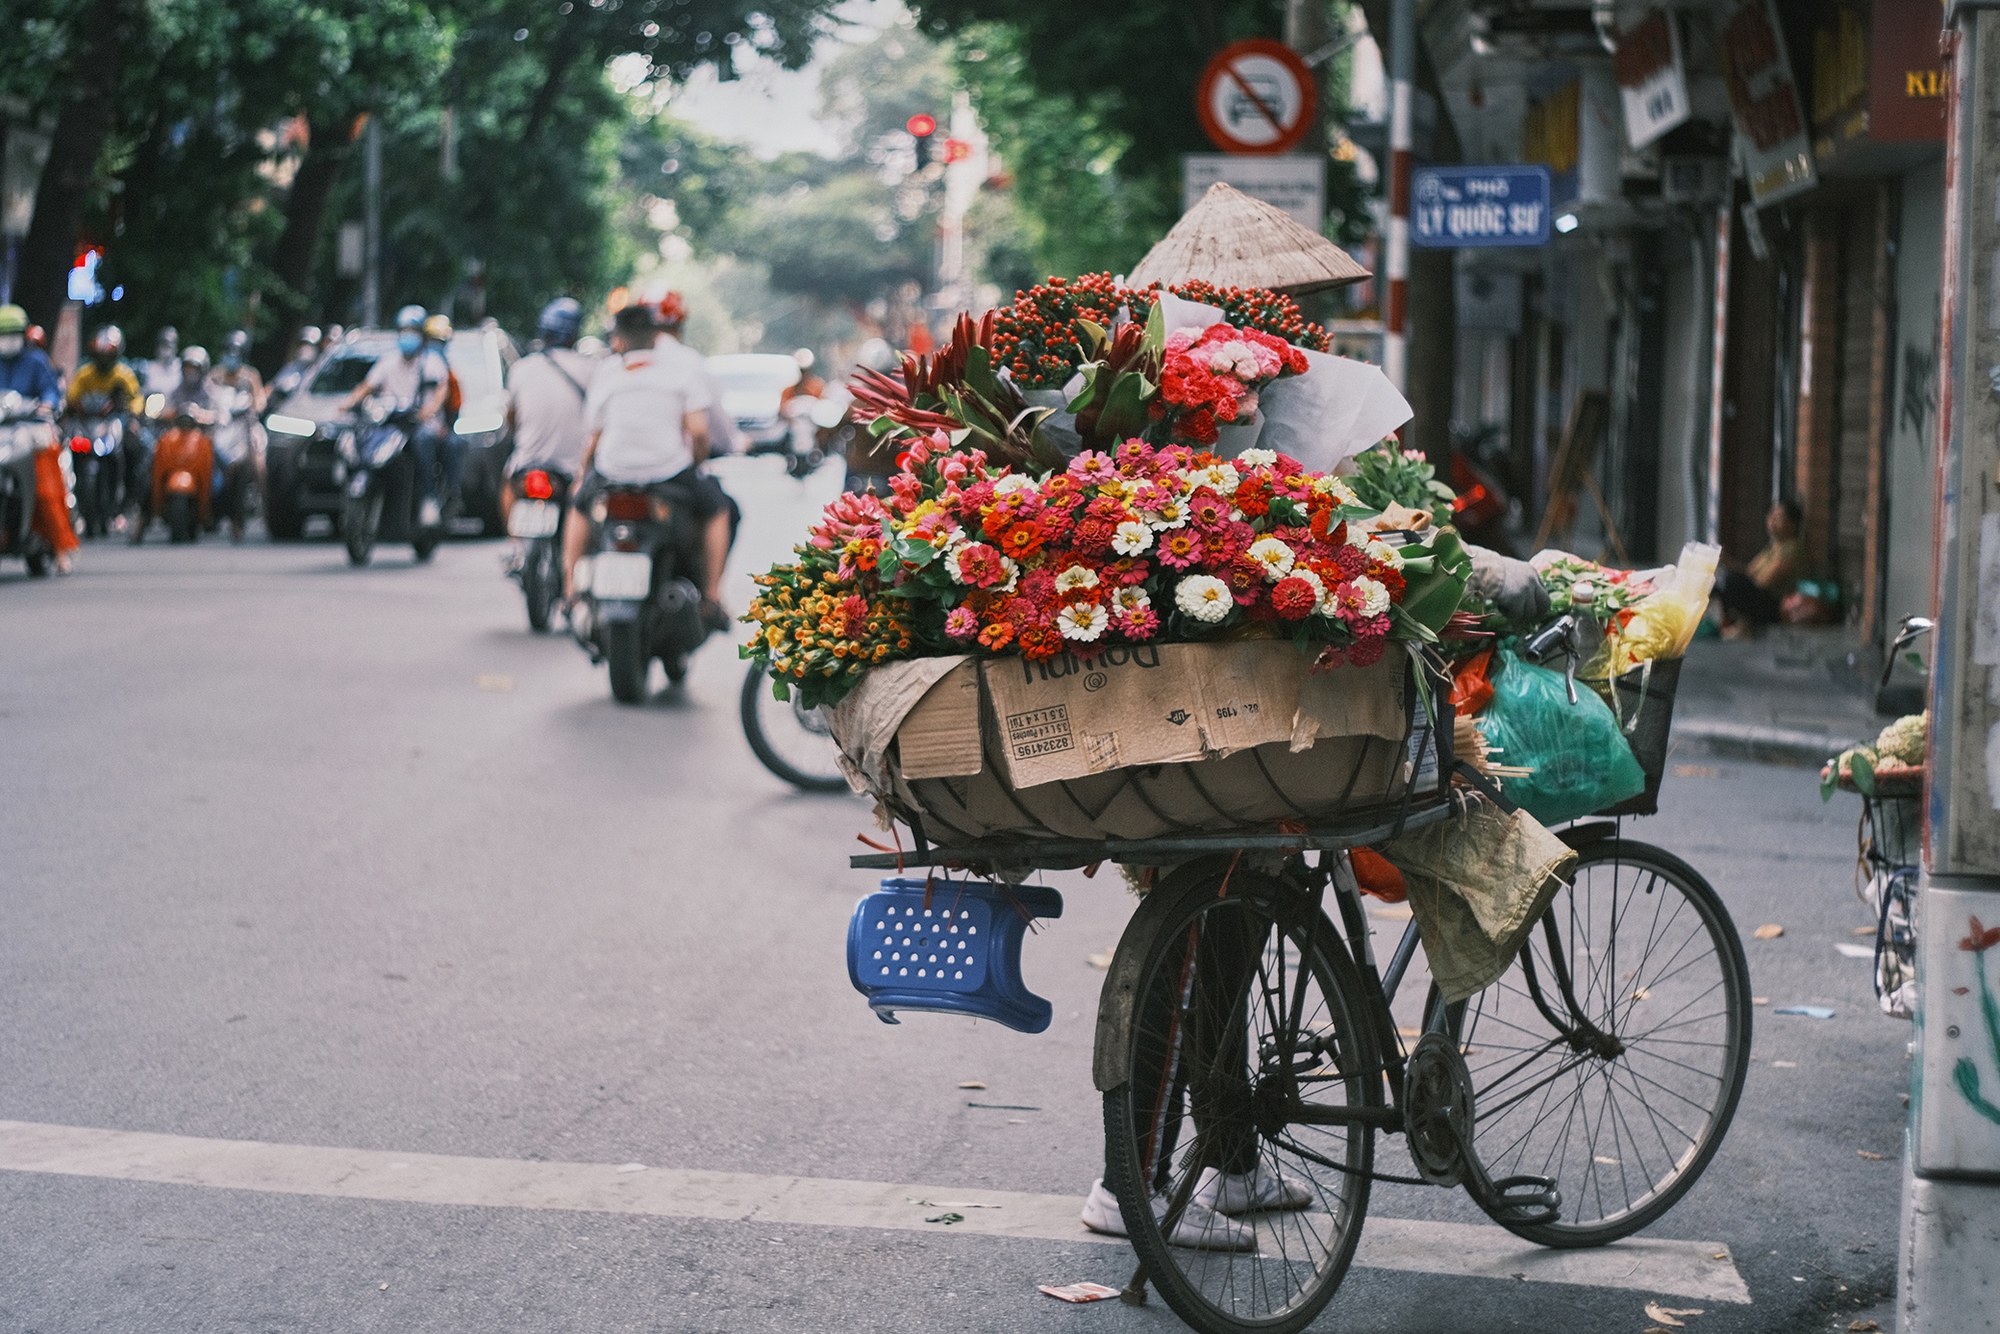
POLYGON ((1020 978, 1028 918, 1060 918, 1062 894, 1036 884, 884 880, 848 922, 848 978, 884 1024, 896 1010, 970 1014, 1042 1032, 1054 1006, 1020 978), (1018 906, 1018 908, 1016 908, 1018 906))

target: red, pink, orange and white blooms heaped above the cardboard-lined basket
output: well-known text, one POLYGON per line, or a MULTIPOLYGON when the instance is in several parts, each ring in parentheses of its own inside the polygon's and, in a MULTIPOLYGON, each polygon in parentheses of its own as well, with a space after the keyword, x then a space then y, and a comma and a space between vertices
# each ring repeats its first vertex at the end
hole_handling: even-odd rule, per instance
MULTIPOLYGON (((1226 342, 1206 330, 1182 350, 1202 346, 1226 342)), ((1244 386, 1262 366, 1232 364, 1244 386)), ((1322 666, 1366 666, 1390 638, 1434 640, 1464 592, 1450 528, 1376 534, 1344 480, 1270 450, 1224 462, 1134 436, 1036 468, 930 430, 890 488, 840 496, 798 560, 758 578, 744 656, 780 698, 838 702, 898 658, 1088 660, 1152 640, 1290 638, 1322 666)))

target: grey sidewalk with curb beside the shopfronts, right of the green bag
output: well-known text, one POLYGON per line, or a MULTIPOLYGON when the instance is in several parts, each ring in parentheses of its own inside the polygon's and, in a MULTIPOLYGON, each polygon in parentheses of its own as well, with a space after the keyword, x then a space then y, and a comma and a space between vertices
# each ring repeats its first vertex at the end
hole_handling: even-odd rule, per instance
POLYGON ((1850 664, 1838 626, 1772 626, 1756 640, 1696 640, 1680 668, 1674 748, 1764 764, 1818 766, 1874 740, 1870 656, 1850 664))

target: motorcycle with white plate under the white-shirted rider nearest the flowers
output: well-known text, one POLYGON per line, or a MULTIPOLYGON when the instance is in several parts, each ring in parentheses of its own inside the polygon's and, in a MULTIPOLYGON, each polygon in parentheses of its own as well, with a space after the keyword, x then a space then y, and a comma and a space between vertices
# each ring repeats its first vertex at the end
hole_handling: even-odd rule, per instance
POLYGON ((702 532, 692 508, 644 486, 612 486, 592 504, 594 534, 576 562, 570 634, 612 672, 612 698, 646 698, 658 658, 666 680, 688 676, 688 656, 708 638, 702 622, 702 532), (694 578, 690 578, 694 576, 694 578))

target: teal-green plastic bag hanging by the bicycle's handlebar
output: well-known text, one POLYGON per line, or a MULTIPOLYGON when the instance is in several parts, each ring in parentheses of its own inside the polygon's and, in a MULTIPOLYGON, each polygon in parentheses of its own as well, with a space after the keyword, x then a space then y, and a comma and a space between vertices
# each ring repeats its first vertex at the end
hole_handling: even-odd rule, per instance
POLYGON ((1562 824, 1616 806, 1646 790, 1646 774, 1618 734, 1618 720, 1596 690, 1580 688, 1576 704, 1560 672, 1522 662, 1500 650, 1494 700, 1478 716, 1500 764, 1532 768, 1506 778, 1500 790, 1542 824, 1562 824))

